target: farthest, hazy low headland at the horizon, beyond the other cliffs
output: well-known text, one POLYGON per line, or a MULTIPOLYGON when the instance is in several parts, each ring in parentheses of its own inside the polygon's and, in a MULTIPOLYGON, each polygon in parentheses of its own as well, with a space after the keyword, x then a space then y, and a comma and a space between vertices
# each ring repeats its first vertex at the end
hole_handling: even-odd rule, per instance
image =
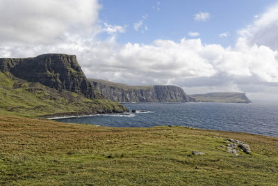
POLYGON ((234 103, 250 103, 245 93, 206 93, 190 95, 199 102, 234 102, 234 103))

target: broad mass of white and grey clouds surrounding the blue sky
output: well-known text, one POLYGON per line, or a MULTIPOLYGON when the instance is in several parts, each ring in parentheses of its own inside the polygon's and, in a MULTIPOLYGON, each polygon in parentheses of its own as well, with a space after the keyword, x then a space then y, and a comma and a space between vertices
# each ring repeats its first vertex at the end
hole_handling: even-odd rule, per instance
MULTIPOLYGON (((99 24, 97 1, 64 2, 0 1, 0 56, 76 54, 88 77, 125 84, 176 84, 189 93, 233 90, 259 98, 260 93, 278 91, 278 6, 242 29, 235 47, 224 48, 204 45, 201 39, 120 45, 113 35, 124 33, 124 26, 99 24), (96 34, 101 31, 111 36, 99 40, 96 34)), ((133 25, 135 30, 147 31, 143 20, 133 25)))

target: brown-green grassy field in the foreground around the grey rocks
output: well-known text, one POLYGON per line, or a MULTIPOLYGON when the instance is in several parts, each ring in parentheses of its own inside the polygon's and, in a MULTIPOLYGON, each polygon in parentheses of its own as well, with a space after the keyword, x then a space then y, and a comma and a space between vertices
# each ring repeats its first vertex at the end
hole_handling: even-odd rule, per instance
POLYGON ((278 185, 278 138, 0 116, 0 184, 278 185), (244 141, 252 153, 228 153, 220 147, 227 138, 244 141))

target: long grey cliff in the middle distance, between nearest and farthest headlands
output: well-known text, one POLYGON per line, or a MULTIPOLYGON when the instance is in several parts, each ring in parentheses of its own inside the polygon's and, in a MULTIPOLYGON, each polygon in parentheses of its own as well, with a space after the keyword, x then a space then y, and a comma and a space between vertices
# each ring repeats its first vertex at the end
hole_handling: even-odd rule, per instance
POLYGON ((101 79, 89 79, 92 86, 115 102, 194 102, 178 86, 128 86, 101 79))

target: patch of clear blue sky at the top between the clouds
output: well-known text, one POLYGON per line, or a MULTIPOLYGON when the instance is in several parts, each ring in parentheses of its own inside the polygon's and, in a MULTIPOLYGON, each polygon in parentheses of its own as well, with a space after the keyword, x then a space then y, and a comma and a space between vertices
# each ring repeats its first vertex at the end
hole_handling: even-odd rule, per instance
MULTIPOLYGON (((117 36, 117 42, 152 43, 156 39, 178 41, 181 38, 193 38, 188 32, 198 32, 206 44, 217 43, 224 47, 233 46, 238 38, 237 31, 251 24, 277 1, 274 0, 117 0, 100 1, 101 21, 108 24, 127 25, 126 33, 117 36), (194 20, 194 15, 209 13, 210 18, 204 22, 194 20), (147 15, 147 16, 146 16, 147 15), (146 16, 147 19, 142 18, 146 16), (144 33, 135 31, 133 24, 143 21, 148 30, 144 33), (229 36, 220 38, 221 33, 229 36)), ((106 34, 100 35, 102 39, 106 34)))

